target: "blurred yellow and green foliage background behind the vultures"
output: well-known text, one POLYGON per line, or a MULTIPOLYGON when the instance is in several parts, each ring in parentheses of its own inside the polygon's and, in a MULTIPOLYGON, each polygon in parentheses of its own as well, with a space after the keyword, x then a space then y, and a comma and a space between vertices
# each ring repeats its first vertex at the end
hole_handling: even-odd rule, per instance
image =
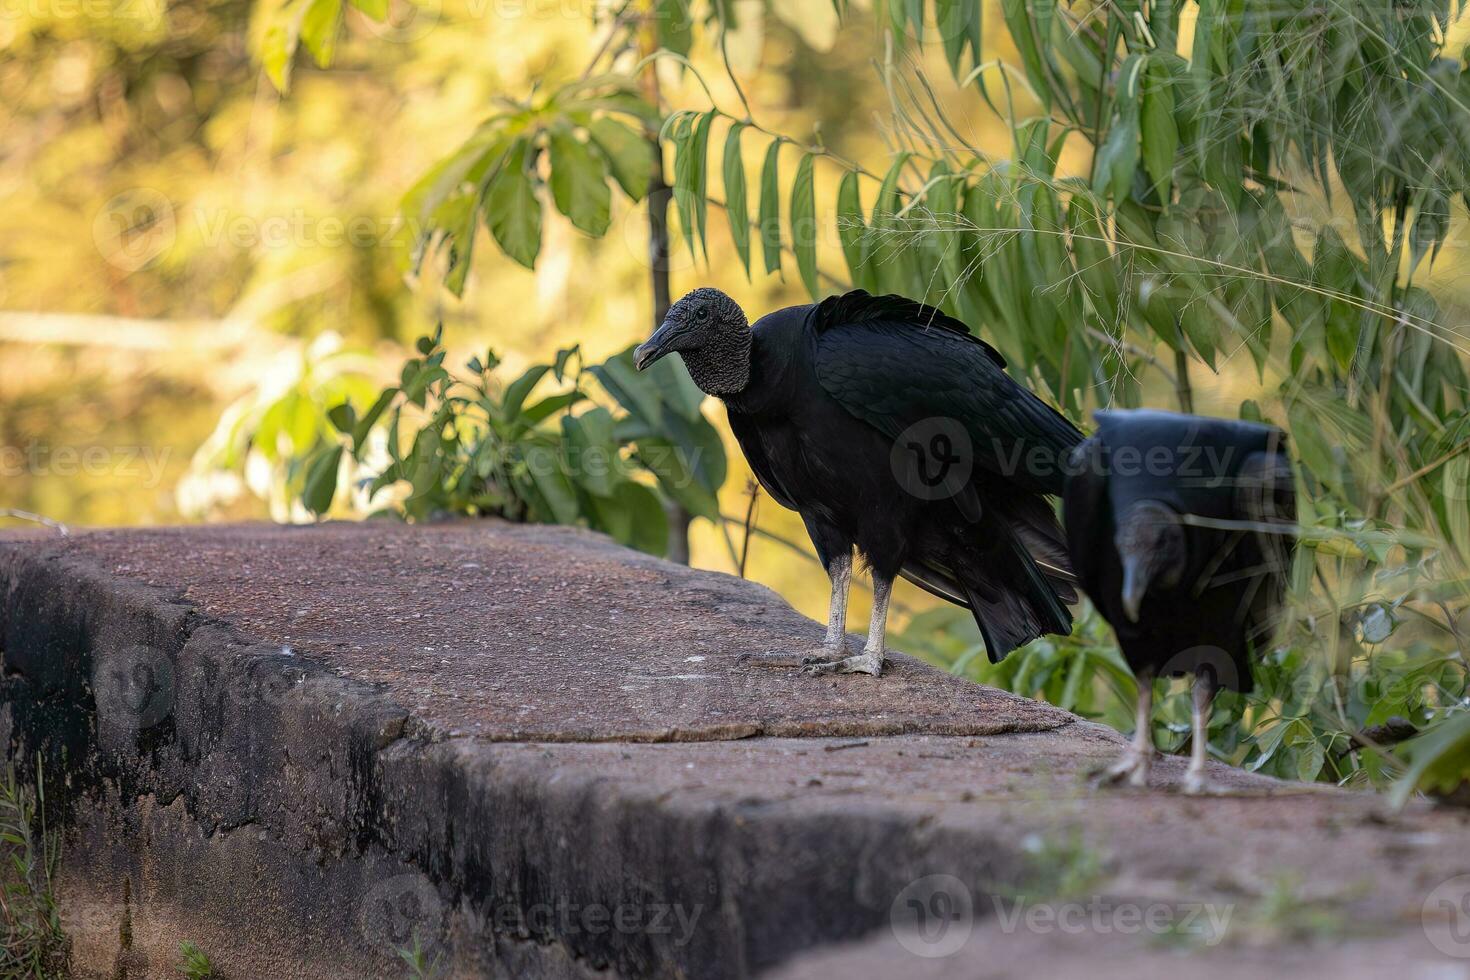
MULTIPOLYGON (((619 382, 656 316, 650 201, 597 138, 620 119, 663 137, 673 295, 713 284, 760 313, 903 291, 1083 428, 1107 404, 1288 428, 1308 544, 1292 623, 1257 695, 1222 698, 1213 749, 1452 789, 1470 765, 1466 37, 1445 4, 1352 0, 13 3, 0 507, 123 525, 387 502, 660 550, 628 514, 688 480, 647 442, 726 429, 676 381, 619 382), (629 82, 588 101, 609 75, 629 82), (710 234, 731 206, 753 223, 710 234), (631 469, 528 469, 594 442, 631 469), (384 475, 369 501, 359 480, 384 475), (1417 752, 1388 748, 1421 730, 1417 752)), ((706 517, 692 561, 820 617, 800 522, 753 501, 728 438, 725 457, 701 475, 716 502, 676 501, 706 517)), ((1130 723, 1097 617, 991 667, 967 616, 904 589, 897 646, 1130 723)), ((1155 726, 1186 745, 1180 692, 1155 726)))

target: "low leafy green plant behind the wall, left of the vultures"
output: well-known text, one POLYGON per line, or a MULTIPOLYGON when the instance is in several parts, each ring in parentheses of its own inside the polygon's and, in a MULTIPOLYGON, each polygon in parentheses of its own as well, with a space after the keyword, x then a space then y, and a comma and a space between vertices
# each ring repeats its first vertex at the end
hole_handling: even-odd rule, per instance
POLYGON ((670 359, 638 372, 623 351, 584 366, 572 347, 504 382, 494 351, 463 372, 445 359, 437 329, 417 339, 398 383, 376 394, 338 381, 315 389, 341 392, 323 404, 293 388, 288 406, 237 417, 219 439, 229 453, 215 447, 196 469, 248 469, 254 447, 269 442, 278 463, 269 498, 285 500, 295 516, 581 525, 651 554, 670 545, 666 504, 720 522, 725 448, 682 364, 670 359), (553 382, 556 391, 538 395, 553 382), (300 416, 285 426, 298 436, 281 439, 282 414, 300 416), (251 419, 254 429, 241 423, 251 419))

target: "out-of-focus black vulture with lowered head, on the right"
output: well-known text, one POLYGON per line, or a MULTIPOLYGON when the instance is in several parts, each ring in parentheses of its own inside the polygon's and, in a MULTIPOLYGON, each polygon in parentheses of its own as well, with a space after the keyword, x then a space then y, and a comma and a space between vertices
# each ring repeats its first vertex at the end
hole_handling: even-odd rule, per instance
POLYGON ((1217 688, 1251 689, 1295 550, 1286 436, 1252 422, 1098 411, 1069 461, 1063 504, 1078 579, 1138 676, 1138 727, 1107 780, 1148 783, 1152 679, 1194 673, 1185 792, 1208 792, 1217 688))

